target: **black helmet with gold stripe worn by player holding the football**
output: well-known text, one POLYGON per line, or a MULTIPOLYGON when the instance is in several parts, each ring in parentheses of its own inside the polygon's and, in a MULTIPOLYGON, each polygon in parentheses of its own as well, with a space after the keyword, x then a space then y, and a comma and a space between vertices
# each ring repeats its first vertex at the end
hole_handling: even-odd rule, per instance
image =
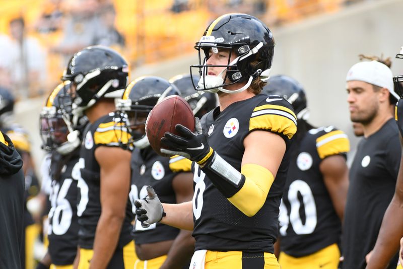
POLYGON ((199 63, 190 66, 197 68, 200 81, 195 90, 208 92, 222 91, 225 93, 237 93, 246 90, 252 80, 260 77, 266 81, 270 75, 274 53, 274 38, 272 32, 259 19, 241 13, 225 14, 214 20, 206 29, 200 41, 196 43, 199 63), (226 65, 207 65, 209 52, 218 53, 219 49, 229 49, 230 55, 226 65), (231 53, 236 58, 230 62, 231 53), (225 76, 208 76, 209 66, 226 68, 225 76), (229 80, 226 83, 227 79, 229 80), (246 85, 240 89, 229 91, 224 87, 238 82, 246 81, 246 85))

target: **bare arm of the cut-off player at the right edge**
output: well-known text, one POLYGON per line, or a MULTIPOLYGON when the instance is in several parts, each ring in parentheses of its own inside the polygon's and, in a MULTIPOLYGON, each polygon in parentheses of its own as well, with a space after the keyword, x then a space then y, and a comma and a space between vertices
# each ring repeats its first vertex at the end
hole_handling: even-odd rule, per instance
MULTIPOLYGON (((403 139, 400 136, 400 144, 403 139)), ((403 236, 403 158, 397 175, 396 189, 385 215, 383 216, 378 239, 370 256, 367 268, 385 268, 399 249, 399 239, 403 236)))

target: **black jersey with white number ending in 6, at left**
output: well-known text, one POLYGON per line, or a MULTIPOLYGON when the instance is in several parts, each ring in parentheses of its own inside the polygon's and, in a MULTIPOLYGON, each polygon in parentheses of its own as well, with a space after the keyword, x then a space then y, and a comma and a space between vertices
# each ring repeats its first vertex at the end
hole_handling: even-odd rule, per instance
POLYGON ((48 252, 55 265, 73 264, 78 245, 77 178, 72 172, 78 166, 79 152, 61 156, 52 154, 52 191, 49 200, 48 252))

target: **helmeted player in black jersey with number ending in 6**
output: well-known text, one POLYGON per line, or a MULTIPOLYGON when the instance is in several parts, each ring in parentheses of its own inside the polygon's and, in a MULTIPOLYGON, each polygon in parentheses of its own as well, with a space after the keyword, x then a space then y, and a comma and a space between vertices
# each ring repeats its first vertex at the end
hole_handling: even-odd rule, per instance
MULTIPOLYGON (((48 96, 40 114, 42 148, 51 153, 52 178, 48 213, 48 250, 38 264, 40 268, 73 268, 78 245, 77 167, 81 141, 68 141, 69 129, 63 119, 60 98, 70 88, 70 81, 59 84, 48 96), (53 265, 51 265, 51 264, 53 265)), ((81 119, 83 125, 85 119, 81 119)))

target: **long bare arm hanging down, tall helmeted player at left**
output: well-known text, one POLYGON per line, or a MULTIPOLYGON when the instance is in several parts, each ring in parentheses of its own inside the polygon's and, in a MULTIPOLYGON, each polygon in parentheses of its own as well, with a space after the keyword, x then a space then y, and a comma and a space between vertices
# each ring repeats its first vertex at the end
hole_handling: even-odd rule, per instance
POLYGON ((115 251, 130 186, 130 153, 118 147, 100 146, 95 150, 100 166, 101 216, 94 240, 90 268, 106 268, 115 251))

